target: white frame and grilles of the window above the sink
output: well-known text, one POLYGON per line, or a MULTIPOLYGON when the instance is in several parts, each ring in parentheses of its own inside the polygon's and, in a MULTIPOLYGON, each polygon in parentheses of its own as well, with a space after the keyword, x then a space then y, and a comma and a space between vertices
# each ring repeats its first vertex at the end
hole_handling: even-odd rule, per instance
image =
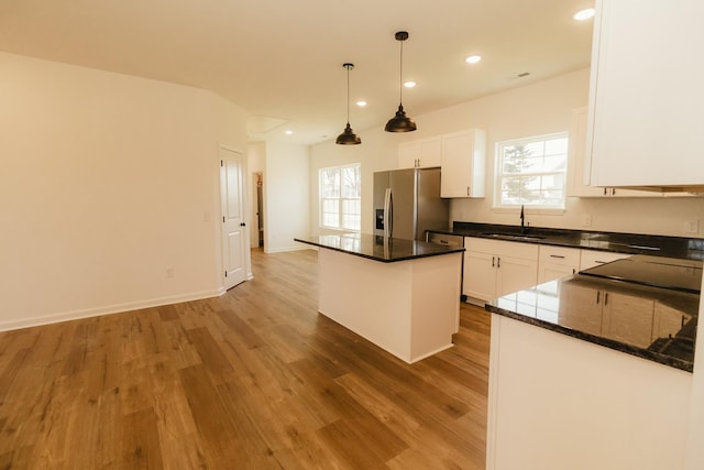
MULTIPOLYGON (((562 132, 553 132, 549 134, 530 135, 526 138, 497 141, 495 144, 495 154, 494 154, 494 161, 495 161, 494 200, 493 200, 492 209, 494 211, 512 211, 521 207, 521 205, 524 205, 525 208, 529 209, 530 211, 563 212, 566 206, 566 197, 568 197, 568 165, 570 163, 570 157, 569 157, 570 141, 569 140, 570 140, 569 131, 562 131, 562 132), (507 177, 506 175, 512 175, 512 174, 504 173, 503 171, 504 170, 504 152, 503 152, 504 147, 510 146, 510 145, 517 145, 517 144, 526 145, 526 144, 536 143, 536 142, 544 143, 547 141, 559 140, 559 139, 566 140, 564 154, 560 154, 560 155, 564 155, 564 170, 551 171, 551 172, 542 171, 542 172, 516 173, 515 175, 536 176, 536 177, 562 175, 562 178, 564 182, 562 186, 562 205, 557 206, 557 205, 543 204, 544 198, 542 197, 542 195, 540 199, 541 204, 526 204, 526 203, 504 204, 502 199, 503 181, 505 177, 507 177)), ((544 157, 544 152, 542 156, 544 157)), ((540 189, 541 193, 543 190, 547 190, 547 189, 542 189, 542 188, 540 189)))

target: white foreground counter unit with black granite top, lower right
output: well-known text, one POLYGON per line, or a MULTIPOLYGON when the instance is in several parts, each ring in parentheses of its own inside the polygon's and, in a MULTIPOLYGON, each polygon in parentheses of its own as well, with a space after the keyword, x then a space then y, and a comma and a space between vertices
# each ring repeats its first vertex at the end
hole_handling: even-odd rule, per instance
POLYGON ((684 468, 698 304, 584 274, 487 303, 486 468, 684 468))

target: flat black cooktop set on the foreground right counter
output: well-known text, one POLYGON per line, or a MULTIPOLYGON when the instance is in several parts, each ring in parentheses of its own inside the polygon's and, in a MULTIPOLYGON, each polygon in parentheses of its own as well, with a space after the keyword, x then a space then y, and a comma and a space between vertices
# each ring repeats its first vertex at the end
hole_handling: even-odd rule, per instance
POLYGON ((580 271, 580 274, 693 294, 702 289, 702 262, 676 258, 638 254, 580 271))

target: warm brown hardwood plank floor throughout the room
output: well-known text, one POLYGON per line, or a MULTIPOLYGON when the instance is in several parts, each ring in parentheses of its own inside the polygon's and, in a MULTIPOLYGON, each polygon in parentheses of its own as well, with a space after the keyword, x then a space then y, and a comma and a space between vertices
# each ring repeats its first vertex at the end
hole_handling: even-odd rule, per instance
POLYGON ((315 251, 252 263, 219 298, 0 332, 0 469, 484 468, 484 310, 408 365, 317 314, 315 251))

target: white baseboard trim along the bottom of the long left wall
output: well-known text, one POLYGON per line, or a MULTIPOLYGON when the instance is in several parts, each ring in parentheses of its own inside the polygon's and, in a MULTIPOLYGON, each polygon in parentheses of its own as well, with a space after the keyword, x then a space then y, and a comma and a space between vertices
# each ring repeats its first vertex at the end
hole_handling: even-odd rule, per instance
POLYGON ((42 315, 30 318, 18 318, 0 321, 0 331, 9 331, 21 328, 37 327, 42 325, 57 324, 61 321, 78 320, 81 318, 99 317, 102 315, 121 314, 124 311, 139 310, 142 308, 158 307, 162 305, 180 304, 183 302, 200 300, 204 298, 218 297, 220 289, 195 292, 190 294, 174 295, 169 297, 152 298, 140 302, 129 302, 125 304, 106 305, 82 310, 63 311, 52 315, 42 315))

